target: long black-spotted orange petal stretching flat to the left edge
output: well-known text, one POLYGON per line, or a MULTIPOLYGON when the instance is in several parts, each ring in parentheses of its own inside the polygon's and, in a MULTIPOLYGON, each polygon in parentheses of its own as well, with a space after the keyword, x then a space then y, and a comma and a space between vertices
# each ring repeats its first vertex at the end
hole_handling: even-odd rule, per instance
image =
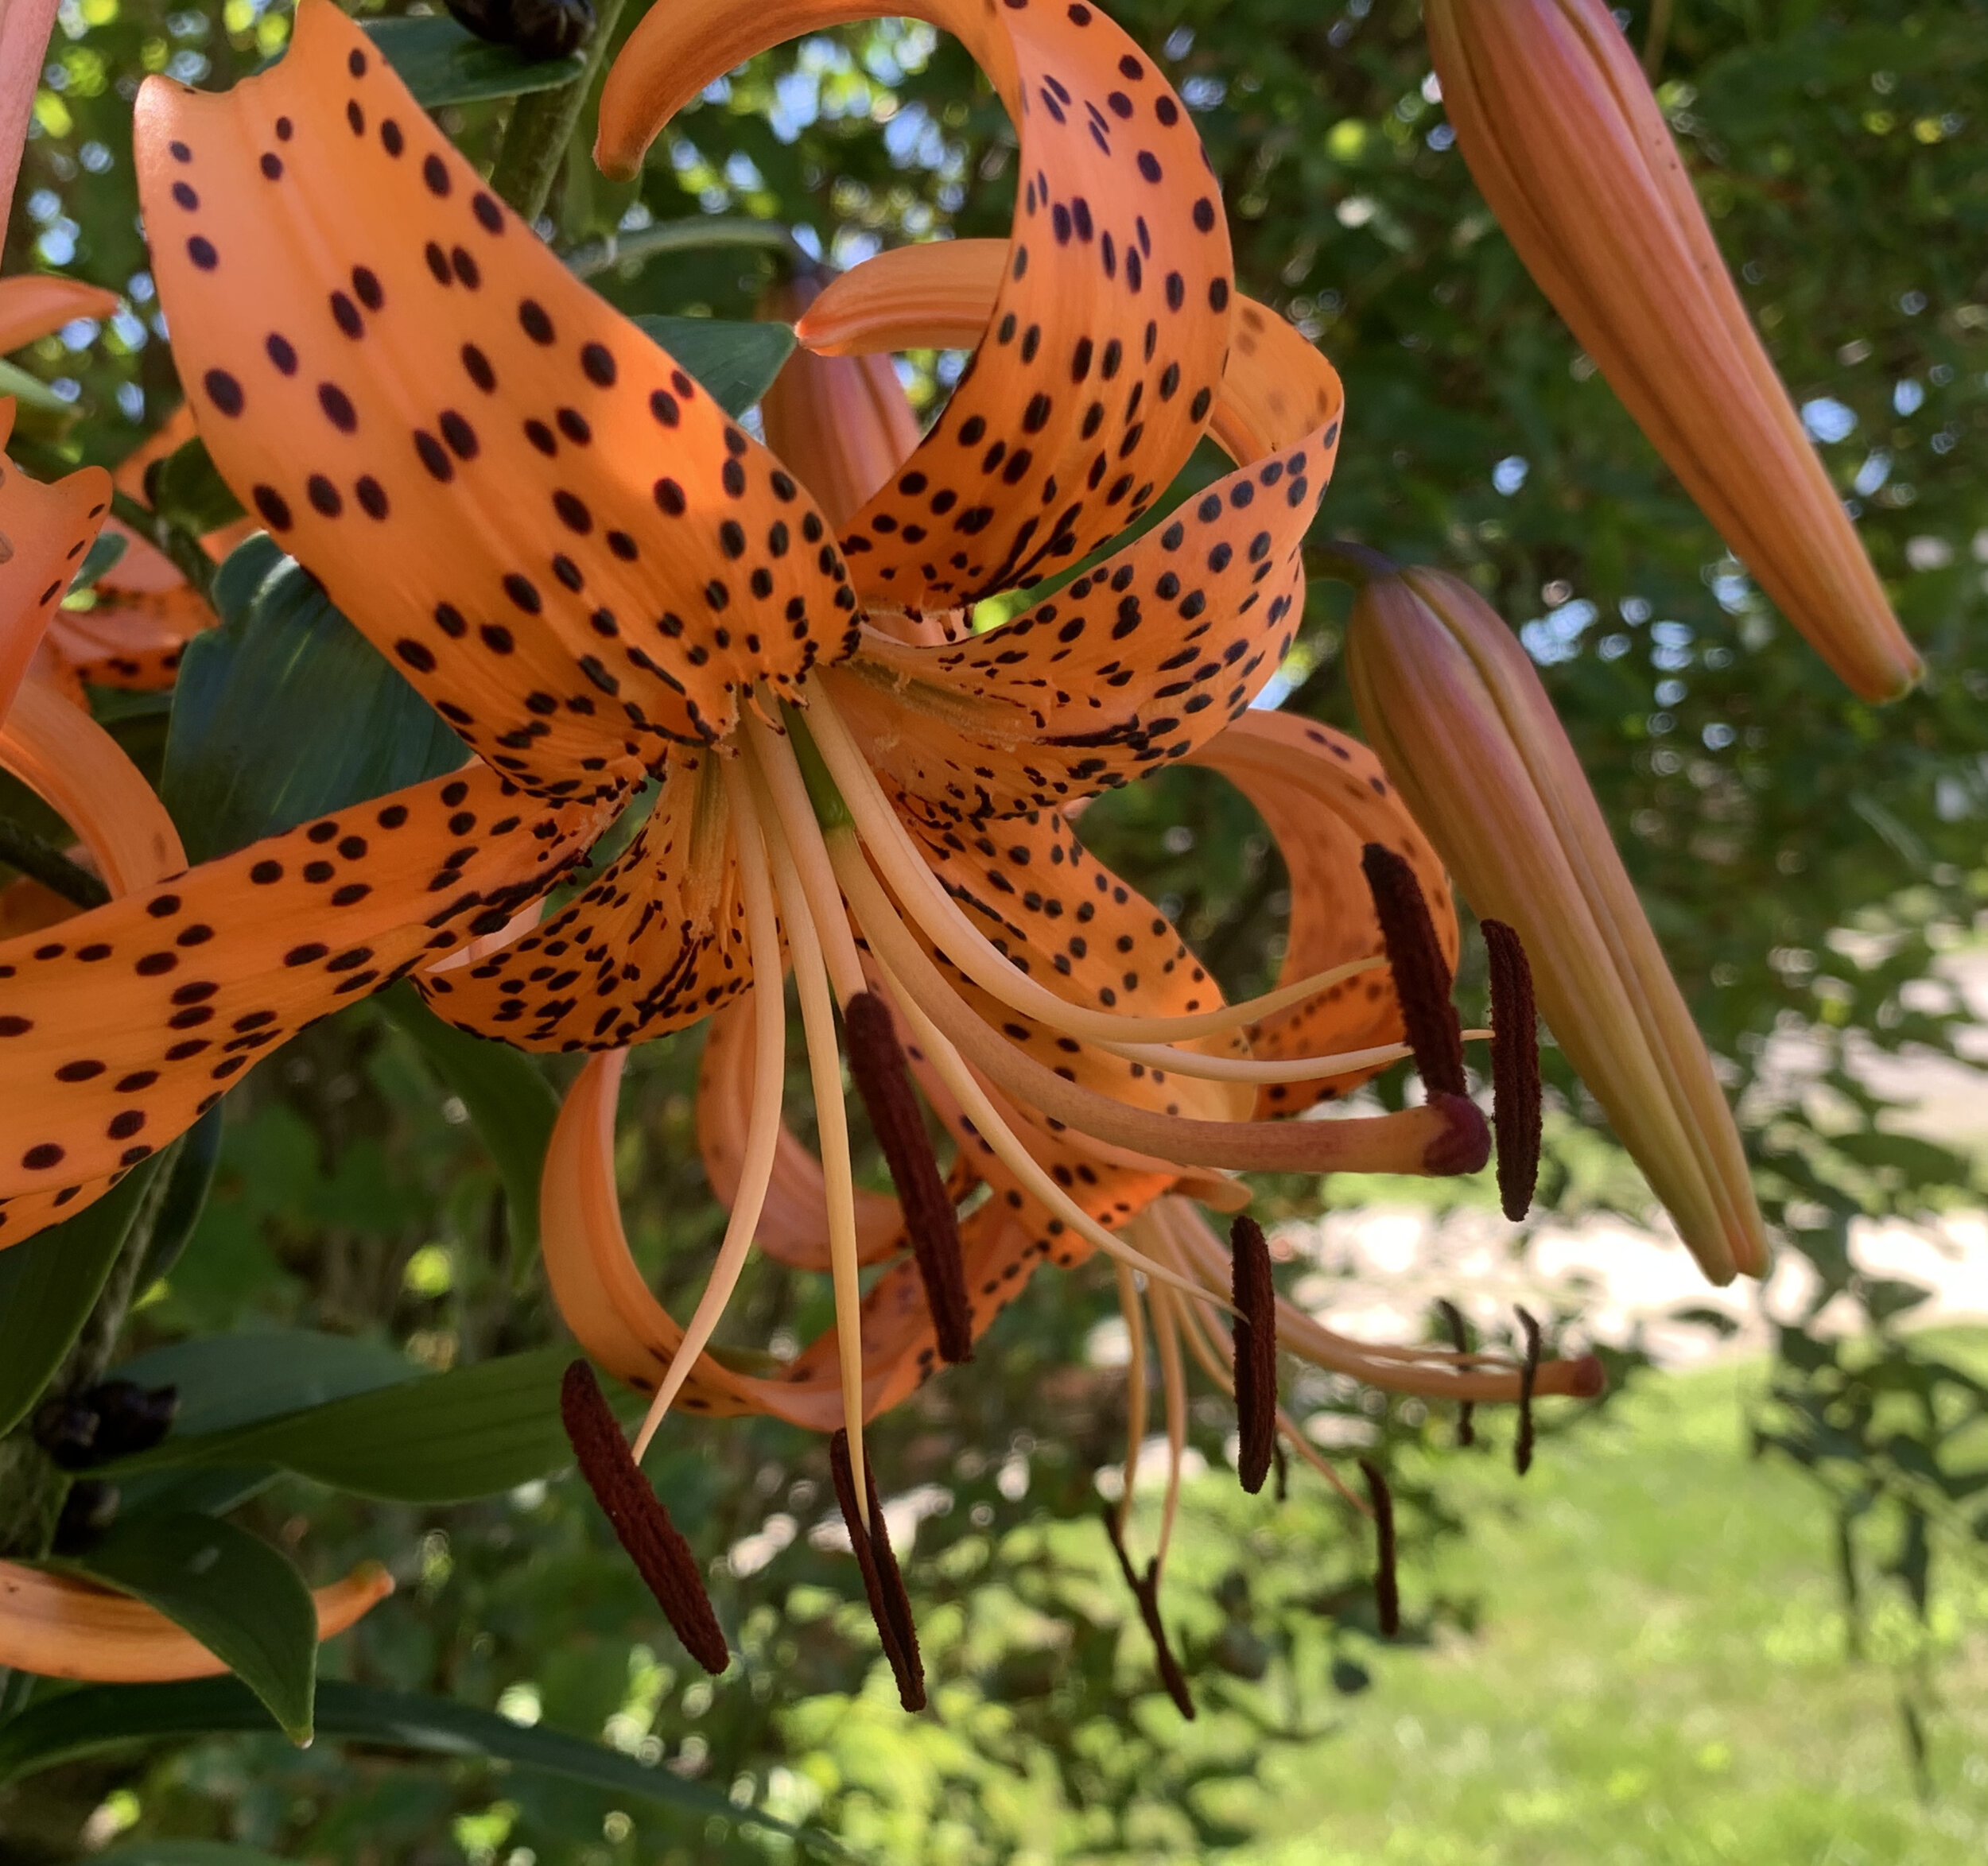
POLYGON ((507 922, 598 815, 471 767, 0 946, 0 1194, 145 1159, 312 1017, 507 922))

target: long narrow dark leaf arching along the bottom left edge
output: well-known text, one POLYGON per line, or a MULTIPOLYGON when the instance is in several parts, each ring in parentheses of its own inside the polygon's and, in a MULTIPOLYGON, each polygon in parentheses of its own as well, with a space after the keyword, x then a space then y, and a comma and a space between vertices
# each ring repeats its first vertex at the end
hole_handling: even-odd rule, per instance
MULTIPOLYGON (((177 1685, 85 1685, 40 1699, 0 1729, 0 1783, 125 1743, 264 1727, 254 1699, 229 1677, 187 1679, 177 1685)), ((771 1814, 738 1808, 716 1788, 684 1781, 668 1769, 644 1767, 634 1757, 584 1737, 517 1725, 445 1697, 326 1679, 318 1687, 318 1735, 431 1757, 487 1757, 616 1796, 680 1808, 700 1820, 716 1816, 728 1824, 746 1822, 791 1834, 819 1856, 849 1858, 819 1830, 797 1832, 771 1814)))

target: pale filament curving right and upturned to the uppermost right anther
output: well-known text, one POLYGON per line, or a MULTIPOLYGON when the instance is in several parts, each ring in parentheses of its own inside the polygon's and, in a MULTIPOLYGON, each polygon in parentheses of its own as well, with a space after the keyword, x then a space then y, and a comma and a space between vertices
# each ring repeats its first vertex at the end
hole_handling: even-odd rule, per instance
MULTIPOLYGON (((857 837, 875 858, 891 892, 905 902, 907 912, 918 922, 924 936, 938 946, 976 986, 990 992, 1010 1010, 1046 1023, 1070 1037, 1089 1037, 1105 1043, 1173 1043, 1195 1037, 1219 1037, 1258 1023, 1272 1011, 1304 1004, 1332 986, 1366 972, 1378 972, 1388 962, 1384 958, 1352 960, 1318 972, 1312 978, 1266 992, 1246 1004, 1223 1006, 1215 1011, 1197 1011, 1189 1017, 1125 1017, 1117 1011, 1095 1011, 1058 998, 1048 986, 1038 984, 1016 964, 1004 958, 988 942, 988 936, 966 916, 966 910, 944 890, 938 876, 920 855, 911 831, 899 821, 891 801, 877 783, 861 747, 849 733, 835 703, 821 682, 809 690, 809 729, 815 749, 829 767, 835 787, 841 793, 857 837)), ((791 749, 789 749, 791 757, 791 749)), ((799 773, 795 773, 799 775, 799 773)))

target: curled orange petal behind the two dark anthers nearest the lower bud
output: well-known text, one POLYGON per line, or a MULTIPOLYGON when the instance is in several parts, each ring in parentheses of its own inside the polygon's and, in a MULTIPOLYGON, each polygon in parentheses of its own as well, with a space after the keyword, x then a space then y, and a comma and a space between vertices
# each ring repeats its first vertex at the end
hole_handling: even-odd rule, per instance
MULTIPOLYGON (((1221 771, 1250 803, 1290 870, 1290 940, 1278 984, 1292 984, 1348 960, 1384 958, 1374 902, 1360 874, 1360 851, 1382 843, 1415 870, 1435 916, 1449 970, 1457 968, 1457 908, 1449 876, 1429 839, 1408 815, 1380 759, 1358 739, 1290 713, 1244 713, 1193 763, 1221 771)), ((1402 1041, 1402 1011, 1386 972, 1330 986, 1250 1029, 1264 1059, 1332 1055, 1402 1041)), ((1294 1115, 1356 1089, 1374 1069, 1316 1083, 1264 1083, 1256 1115, 1294 1115)))

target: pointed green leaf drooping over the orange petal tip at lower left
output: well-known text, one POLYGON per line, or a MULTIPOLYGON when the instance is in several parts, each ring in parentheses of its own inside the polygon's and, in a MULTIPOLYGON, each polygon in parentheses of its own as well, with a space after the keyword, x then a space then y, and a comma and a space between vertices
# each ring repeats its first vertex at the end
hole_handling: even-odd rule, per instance
POLYGON ((215 1516, 145 1516, 64 1566, 157 1608, 227 1663, 292 1743, 310 1741, 318 1610, 268 1542, 215 1516))

